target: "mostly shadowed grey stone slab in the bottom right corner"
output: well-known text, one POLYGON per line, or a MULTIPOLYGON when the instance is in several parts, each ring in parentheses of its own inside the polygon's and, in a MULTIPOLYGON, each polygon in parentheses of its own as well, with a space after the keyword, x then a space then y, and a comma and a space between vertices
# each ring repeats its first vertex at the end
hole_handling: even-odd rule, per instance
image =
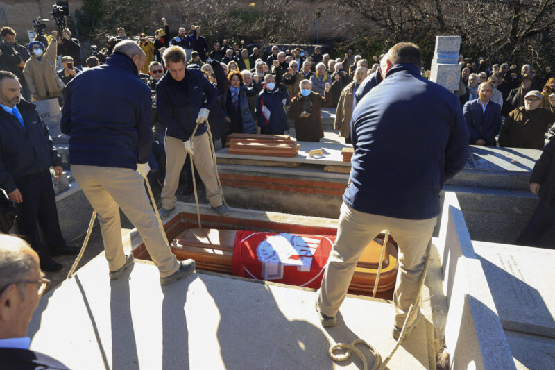
POLYGON ((518 370, 555 369, 555 339, 505 330, 518 370))

